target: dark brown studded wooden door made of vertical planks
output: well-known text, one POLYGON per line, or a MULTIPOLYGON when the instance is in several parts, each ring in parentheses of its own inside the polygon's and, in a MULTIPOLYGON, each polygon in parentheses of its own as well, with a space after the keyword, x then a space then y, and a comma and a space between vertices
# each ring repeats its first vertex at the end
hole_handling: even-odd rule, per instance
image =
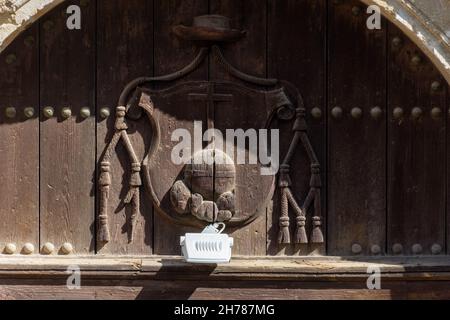
POLYGON ((0 251, 179 255, 179 237, 204 223, 171 219, 164 183, 183 169, 167 153, 148 159, 158 132, 147 106, 159 152, 195 120, 220 132, 268 122, 280 162, 292 149, 273 181, 235 168, 236 212, 247 213, 229 224, 234 255, 448 253, 448 85, 400 30, 384 19, 368 29, 368 17, 356 0, 59 5, 0 55, 0 251), (69 5, 80 30, 67 28, 69 5), (233 41, 180 37, 174 27, 191 32, 201 15, 230 18, 233 41), (138 77, 152 79, 119 106, 125 143, 107 151, 138 77))

